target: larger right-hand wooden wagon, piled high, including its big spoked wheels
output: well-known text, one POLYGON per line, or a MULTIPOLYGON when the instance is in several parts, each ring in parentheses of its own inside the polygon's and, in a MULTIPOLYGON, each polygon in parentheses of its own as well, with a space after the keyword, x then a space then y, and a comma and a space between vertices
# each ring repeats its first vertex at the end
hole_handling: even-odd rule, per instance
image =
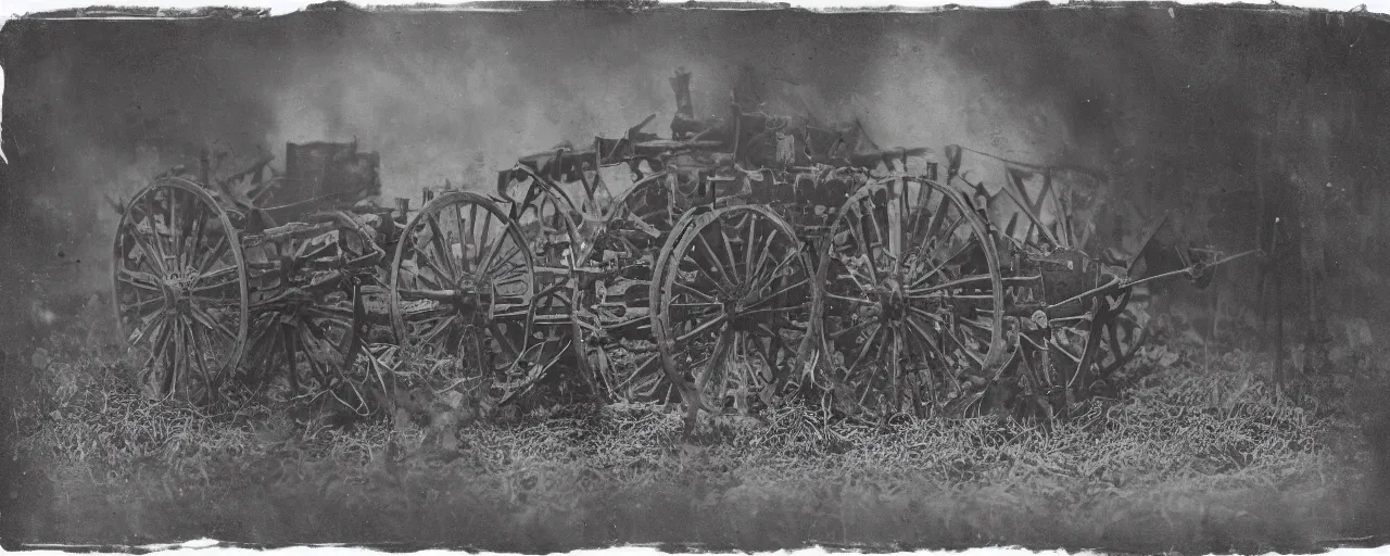
MULTIPOLYGON (((523 158, 498 182, 499 196, 521 207, 514 218, 535 207, 537 218, 553 220, 548 229, 560 239, 552 245, 563 253, 555 259, 571 270, 575 292, 578 367, 610 398, 746 411, 785 386, 812 385, 851 413, 905 404, 941 413, 979 409, 1001 382, 1037 378, 1023 393, 1056 393, 1061 381, 1061 407, 1137 350, 1147 281, 1194 277, 1201 265, 1186 247, 1152 236, 1130 253, 1097 254, 1094 227, 1073 218, 1076 193, 1104 190, 1104 179, 1084 168, 992 160, 1002 183, 991 190, 962 174, 960 147, 948 146, 941 158, 930 149, 878 149, 856 125, 817 128, 738 106, 728 118, 696 121, 685 86, 688 74, 678 72, 671 139, 644 132, 648 118, 624 138, 523 158), (1072 197, 1058 193, 1068 185, 1072 197), (751 239, 764 239, 749 221, 794 236, 787 249, 796 256, 787 260, 802 260, 791 274, 812 285, 798 295, 778 291, 773 313, 791 318, 773 320, 774 331, 735 317, 751 293, 710 295, 737 289, 737 259, 751 239), (720 243, 724 252, 714 253, 720 243), (954 253, 938 252, 945 246, 954 253), (908 263, 912 256, 920 260, 908 263), (931 257, 935 274, 913 275, 931 257), (933 295, 912 300, 912 288, 933 295), (702 321, 692 316, 701 306, 721 306, 714 313, 723 317, 702 321), (855 331, 884 314, 902 329, 855 331), (760 345, 748 339, 759 334, 760 345), (816 339, 833 334, 847 335, 816 339), (863 348, 887 354, 873 368, 847 368, 863 348), (1058 357, 1068 361, 1048 361, 1058 357), (1030 378, 1020 368, 1030 359, 1063 370, 1030 378), (949 368, 958 366, 973 368, 949 368)), ((753 284, 764 292, 792 288, 787 277, 764 278, 753 284)))

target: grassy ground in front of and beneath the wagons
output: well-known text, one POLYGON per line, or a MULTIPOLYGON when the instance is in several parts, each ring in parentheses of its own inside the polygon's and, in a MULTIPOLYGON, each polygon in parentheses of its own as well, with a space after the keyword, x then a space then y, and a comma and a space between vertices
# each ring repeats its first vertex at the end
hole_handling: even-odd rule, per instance
MULTIPOLYGON (((95 307, 81 310, 99 311, 95 307)), ((581 402, 453 427, 139 399, 97 318, 7 357, 8 542, 616 543, 1309 550, 1371 531, 1379 352, 1279 389, 1236 325, 1163 316, 1122 399, 1052 427, 887 430, 809 406, 682 439, 659 406, 581 402), (1248 346, 1247 346, 1248 348, 1248 346), (1359 388, 1351 388, 1358 385, 1359 388), (1358 395, 1358 392, 1362 392, 1358 395)))

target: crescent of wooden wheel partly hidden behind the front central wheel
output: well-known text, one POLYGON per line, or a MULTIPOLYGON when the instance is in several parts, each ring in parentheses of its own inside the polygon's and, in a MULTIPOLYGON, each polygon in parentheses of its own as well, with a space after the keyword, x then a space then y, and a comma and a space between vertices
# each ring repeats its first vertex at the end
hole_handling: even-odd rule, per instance
POLYGON ((591 231, 581 261, 589 272, 577 284, 575 334, 580 364, 610 400, 671 402, 652 329, 651 292, 659 284, 656 254, 676 229, 664 174, 638 181, 591 231))

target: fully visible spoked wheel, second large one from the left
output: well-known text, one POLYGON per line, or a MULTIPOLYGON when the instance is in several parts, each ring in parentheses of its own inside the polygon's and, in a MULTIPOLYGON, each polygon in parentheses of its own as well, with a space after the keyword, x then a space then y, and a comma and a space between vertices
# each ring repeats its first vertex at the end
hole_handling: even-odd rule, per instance
POLYGON ((407 361, 430 366, 427 379, 506 403, 557 360, 555 339, 535 325, 535 260, 512 218, 481 195, 446 192, 396 245, 392 325, 407 361))

